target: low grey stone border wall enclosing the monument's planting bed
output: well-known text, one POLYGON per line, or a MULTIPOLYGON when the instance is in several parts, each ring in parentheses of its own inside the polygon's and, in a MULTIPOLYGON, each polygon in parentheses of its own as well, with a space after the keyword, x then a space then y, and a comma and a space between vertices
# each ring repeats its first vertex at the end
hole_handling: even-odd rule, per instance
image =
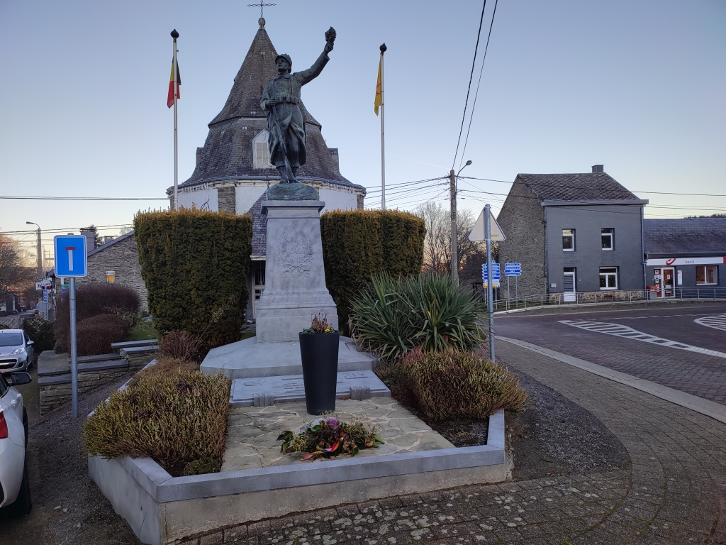
POLYGON ((89 456, 89 475, 145 544, 292 512, 506 478, 504 411, 486 445, 171 477, 152 459, 89 456))

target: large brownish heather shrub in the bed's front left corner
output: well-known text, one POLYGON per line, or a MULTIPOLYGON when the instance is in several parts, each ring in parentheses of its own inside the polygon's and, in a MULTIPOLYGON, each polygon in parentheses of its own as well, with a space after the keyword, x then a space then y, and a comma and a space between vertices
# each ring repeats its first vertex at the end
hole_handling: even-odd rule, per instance
POLYGON ((83 423, 83 446, 91 456, 152 458, 174 477, 219 471, 231 385, 221 374, 139 374, 83 423))

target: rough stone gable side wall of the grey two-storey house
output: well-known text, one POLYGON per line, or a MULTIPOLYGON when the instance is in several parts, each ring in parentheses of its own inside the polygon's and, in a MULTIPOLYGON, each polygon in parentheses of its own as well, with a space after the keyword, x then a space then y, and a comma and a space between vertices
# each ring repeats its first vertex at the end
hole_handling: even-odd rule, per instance
MULTIPOLYGON (((502 270, 500 296, 507 297, 505 263, 521 263, 518 295, 547 293, 547 267, 544 246, 544 209, 529 187, 515 180, 507 200, 497 216, 506 240, 499 242, 499 263, 502 270)), ((514 283, 511 283, 512 297, 514 283)))

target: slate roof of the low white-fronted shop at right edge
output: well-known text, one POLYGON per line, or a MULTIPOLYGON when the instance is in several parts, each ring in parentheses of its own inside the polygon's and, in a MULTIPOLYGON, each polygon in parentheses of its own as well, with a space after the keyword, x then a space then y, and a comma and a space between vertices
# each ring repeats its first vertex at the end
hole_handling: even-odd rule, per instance
POLYGON ((645 253, 726 255, 726 218, 644 219, 645 253))

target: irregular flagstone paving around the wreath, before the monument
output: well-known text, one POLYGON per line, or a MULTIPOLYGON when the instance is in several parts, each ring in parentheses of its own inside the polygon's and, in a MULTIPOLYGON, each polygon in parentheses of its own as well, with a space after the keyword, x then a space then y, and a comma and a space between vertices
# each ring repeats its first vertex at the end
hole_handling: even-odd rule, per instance
MULTIPOLYGON (((417 419, 396 400, 338 400, 335 416, 343 421, 352 418, 375 426, 385 444, 360 451, 356 458, 382 454, 434 451, 454 448, 452 443, 417 419)), ((298 433, 317 416, 310 416, 305 402, 281 403, 269 407, 236 407, 227 419, 227 445, 222 471, 301 464, 301 453, 282 454, 277 436, 286 429, 298 433)), ((350 456, 341 455, 336 459, 350 456)))

